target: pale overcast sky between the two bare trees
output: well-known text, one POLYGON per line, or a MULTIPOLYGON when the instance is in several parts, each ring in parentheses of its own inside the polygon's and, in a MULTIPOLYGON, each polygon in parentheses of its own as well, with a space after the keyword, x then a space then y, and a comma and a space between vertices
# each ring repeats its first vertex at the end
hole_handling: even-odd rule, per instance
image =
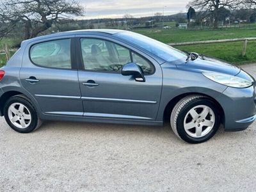
POLYGON ((123 17, 126 13, 133 17, 151 16, 161 12, 171 15, 186 12, 189 0, 79 0, 86 9, 86 19, 123 17))

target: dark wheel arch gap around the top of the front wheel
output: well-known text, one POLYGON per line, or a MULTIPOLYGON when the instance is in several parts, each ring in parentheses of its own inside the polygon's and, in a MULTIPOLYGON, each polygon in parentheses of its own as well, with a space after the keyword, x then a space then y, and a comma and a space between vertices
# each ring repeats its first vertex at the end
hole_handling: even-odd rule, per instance
POLYGON ((224 110, 221 107, 220 103, 216 99, 214 99, 213 97, 211 97, 207 94, 196 93, 196 92, 182 93, 180 95, 177 95, 173 99, 171 99, 164 108, 164 114, 163 114, 164 123, 170 122, 170 115, 172 113, 172 110, 173 110, 174 106, 177 104, 177 102, 179 102, 180 99, 182 99, 186 96, 189 96, 189 95, 202 95, 202 96, 205 96, 208 99, 212 100, 216 104, 217 108, 220 110, 220 122, 221 122, 221 124, 225 125, 225 113, 224 113, 224 110))

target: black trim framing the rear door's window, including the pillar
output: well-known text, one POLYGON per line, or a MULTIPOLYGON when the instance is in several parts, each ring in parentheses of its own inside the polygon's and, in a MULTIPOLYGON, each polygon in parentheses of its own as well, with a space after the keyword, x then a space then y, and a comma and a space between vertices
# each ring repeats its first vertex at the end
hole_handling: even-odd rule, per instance
POLYGON ((29 50, 28 50, 28 57, 29 57, 29 61, 35 65, 36 67, 41 67, 41 68, 51 68, 51 69, 58 69, 58 70, 77 70, 77 64, 76 64, 76 55, 74 54, 74 50, 75 49, 75 37, 67 37, 67 38, 54 38, 51 40, 45 40, 42 42, 36 42, 35 44, 31 44, 29 45, 29 50), (38 45, 38 44, 44 44, 47 42, 54 42, 57 40, 70 40, 70 64, 71 64, 71 68, 59 68, 59 67, 46 67, 43 65, 39 65, 37 63, 35 63, 32 59, 31 59, 31 49, 33 46, 38 45))

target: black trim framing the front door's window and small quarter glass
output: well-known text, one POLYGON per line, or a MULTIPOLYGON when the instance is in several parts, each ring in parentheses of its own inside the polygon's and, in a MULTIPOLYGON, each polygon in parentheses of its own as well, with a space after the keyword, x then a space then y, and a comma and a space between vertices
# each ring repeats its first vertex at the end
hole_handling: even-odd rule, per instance
POLYGON ((88 70, 88 69, 85 69, 84 68, 84 61, 83 61, 83 53, 82 53, 82 47, 81 47, 81 39, 84 39, 84 38, 90 38, 90 39, 96 39, 96 40, 104 40, 104 41, 108 41, 108 42, 111 42, 113 44, 117 44, 117 45, 120 45, 121 47, 124 47, 125 49, 127 49, 129 51, 129 54, 130 54, 130 59, 131 59, 131 62, 133 60, 132 58, 132 52, 134 52, 135 54, 138 54, 138 56, 141 56, 141 58, 143 58, 144 60, 148 61, 148 64, 153 68, 153 71, 152 73, 150 74, 144 74, 143 73, 143 76, 152 76, 153 74, 155 74, 156 72, 156 67, 155 65, 150 61, 148 60, 148 58, 146 58, 145 56, 141 55, 140 53, 138 53, 137 51, 134 51, 133 49, 130 49, 128 47, 126 47, 125 45, 122 45, 122 44, 119 44, 119 43, 116 43, 112 40, 107 40, 105 38, 102 38, 102 37, 97 37, 97 36, 77 36, 76 37, 77 40, 76 40, 76 48, 78 49, 78 51, 76 50, 78 56, 79 56, 79 59, 77 60, 77 62, 81 63, 81 65, 79 66, 79 70, 83 70, 83 71, 86 71, 86 72, 102 72, 102 73, 111 73, 111 74, 121 74, 121 71, 110 71, 110 70, 88 70))

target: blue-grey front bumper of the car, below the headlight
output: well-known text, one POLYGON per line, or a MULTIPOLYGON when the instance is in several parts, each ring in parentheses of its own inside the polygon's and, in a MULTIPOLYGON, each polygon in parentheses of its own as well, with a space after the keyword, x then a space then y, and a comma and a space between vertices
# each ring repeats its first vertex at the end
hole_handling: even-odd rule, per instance
POLYGON ((225 131, 241 131, 256 119, 255 88, 228 87, 219 97, 225 117, 225 131))

